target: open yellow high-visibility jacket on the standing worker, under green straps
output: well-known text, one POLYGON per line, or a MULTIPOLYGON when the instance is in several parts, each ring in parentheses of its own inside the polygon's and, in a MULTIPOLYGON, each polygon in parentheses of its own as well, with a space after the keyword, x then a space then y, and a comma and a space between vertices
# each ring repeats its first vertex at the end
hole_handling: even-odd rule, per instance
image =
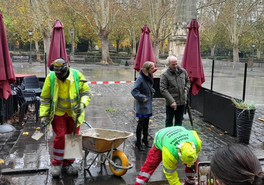
MULTIPOLYGON (((72 110, 72 118, 75 121, 76 120, 76 112, 74 111, 74 107, 78 104, 78 94, 74 82, 73 72, 72 69, 69 68, 70 74, 66 80, 70 82, 69 84, 69 96, 68 98, 65 98, 64 101, 70 101, 71 110, 72 110)), ((78 72, 79 80, 85 80, 83 74, 81 72, 78 72)), ((58 78, 54 77, 54 96, 51 96, 51 84, 50 84, 50 74, 47 75, 45 79, 45 83, 40 95, 40 117, 48 116, 49 117, 49 125, 51 124, 51 121, 53 120, 55 110, 57 108, 58 104, 58 98, 60 98, 59 87, 58 87, 58 78), (53 110, 50 110, 51 102, 54 103, 53 110)), ((91 101, 91 90, 88 87, 87 83, 79 82, 79 96, 80 96, 80 102, 84 104, 84 107, 86 107, 90 101, 91 101)), ((62 99, 62 98, 60 98, 62 99)), ((84 120, 84 111, 81 113, 81 115, 78 116, 78 123, 77 127, 82 124, 84 120)))

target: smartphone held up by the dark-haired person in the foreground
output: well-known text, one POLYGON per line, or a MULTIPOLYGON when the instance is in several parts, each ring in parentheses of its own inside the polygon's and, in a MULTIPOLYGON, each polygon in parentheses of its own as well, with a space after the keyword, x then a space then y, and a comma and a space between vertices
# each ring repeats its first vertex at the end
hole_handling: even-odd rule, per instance
MULTIPOLYGON (((211 162, 199 162, 198 163, 198 183, 199 185, 210 185, 209 184, 209 171, 211 162)), ((211 179, 211 184, 213 184, 213 179, 211 179)))

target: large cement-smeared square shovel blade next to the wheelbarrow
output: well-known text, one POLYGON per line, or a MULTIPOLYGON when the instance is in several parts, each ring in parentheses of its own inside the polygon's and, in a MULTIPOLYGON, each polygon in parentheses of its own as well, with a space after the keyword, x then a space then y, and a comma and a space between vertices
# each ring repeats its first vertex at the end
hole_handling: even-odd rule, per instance
POLYGON ((65 134, 63 159, 82 158, 82 135, 65 134))

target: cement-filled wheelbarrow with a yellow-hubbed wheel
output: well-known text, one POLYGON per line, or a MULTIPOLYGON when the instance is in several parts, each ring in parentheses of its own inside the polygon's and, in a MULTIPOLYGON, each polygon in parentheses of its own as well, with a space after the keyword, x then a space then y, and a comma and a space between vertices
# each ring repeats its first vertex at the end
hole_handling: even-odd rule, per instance
POLYGON ((88 122, 84 121, 91 129, 82 130, 79 134, 82 135, 82 146, 85 151, 83 168, 89 170, 96 158, 100 155, 101 163, 109 162, 111 172, 116 176, 124 175, 128 169, 133 167, 133 164, 128 161, 124 154, 126 139, 133 136, 132 132, 122 132, 109 129, 93 128, 88 122), (122 143, 123 151, 117 150, 122 143), (89 153, 96 154, 92 163, 87 168, 87 156, 89 153), (107 153, 107 154, 105 154, 107 153), (104 160, 103 160, 104 157, 104 160), (110 157, 110 158, 109 158, 110 157))

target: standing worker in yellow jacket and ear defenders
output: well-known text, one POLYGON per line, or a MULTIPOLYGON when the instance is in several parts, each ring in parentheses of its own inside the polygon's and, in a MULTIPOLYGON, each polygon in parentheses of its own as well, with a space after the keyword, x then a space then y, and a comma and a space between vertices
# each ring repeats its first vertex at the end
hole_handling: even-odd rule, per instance
POLYGON ((83 74, 69 68, 64 58, 53 61, 50 71, 40 96, 40 117, 41 126, 51 124, 56 134, 51 175, 58 177, 61 171, 76 175, 78 170, 72 167, 75 159, 63 159, 65 134, 73 132, 76 117, 78 117, 76 134, 79 133, 84 120, 84 108, 91 100, 91 91, 87 83, 79 82, 85 80, 83 74))

